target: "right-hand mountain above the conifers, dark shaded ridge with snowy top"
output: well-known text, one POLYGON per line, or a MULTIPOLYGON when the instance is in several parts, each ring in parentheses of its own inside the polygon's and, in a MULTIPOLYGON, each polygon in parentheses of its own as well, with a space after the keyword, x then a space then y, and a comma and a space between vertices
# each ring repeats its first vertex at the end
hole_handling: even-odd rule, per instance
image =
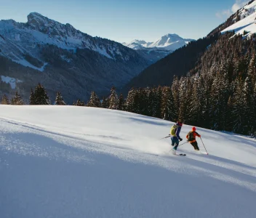
MULTIPOLYGON (((186 76, 191 71, 196 73, 199 70, 198 66, 200 64, 207 66, 208 70, 210 70, 212 63, 214 62, 216 65, 220 66, 222 59, 215 58, 215 55, 217 54, 216 52, 212 52, 212 54, 209 55, 207 62, 202 62, 201 58, 203 57, 204 53, 209 50, 211 45, 212 49, 210 51, 213 51, 215 49, 215 43, 217 40, 220 39, 222 34, 227 32, 234 33, 230 37, 239 37, 239 34, 243 37, 243 39, 250 39, 250 36, 255 37, 255 11, 256 1, 250 1, 246 6, 242 7, 235 14, 231 15, 231 17, 229 17, 225 23, 219 25, 203 39, 191 41, 187 47, 177 49, 175 52, 172 52, 172 54, 167 55, 167 57, 164 57, 153 65, 148 66, 148 68, 145 68, 145 70, 143 70, 138 76, 129 81, 127 86, 124 88, 125 92, 127 92, 127 90, 129 90, 132 86, 170 86, 172 85, 174 76, 186 76)), ((228 38, 225 39, 226 44, 231 43, 231 41, 228 42, 228 40, 228 38)), ((233 41, 233 43, 235 42, 233 41)), ((239 45, 241 46, 241 44, 243 44, 243 42, 240 40, 239 45)), ((233 44, 233 46, 236 47, 238 45, 233 44)), ((246 48, 248 49, 249 45, 247 45, 246 48)), ((223 49, 220 49, 219 52, 223 52, 223 49)), ((237 55, 242 57, 244 55, 244 51, 237 55)), ((224 52, 222 57, 228 58, 228 53, 224 52)))

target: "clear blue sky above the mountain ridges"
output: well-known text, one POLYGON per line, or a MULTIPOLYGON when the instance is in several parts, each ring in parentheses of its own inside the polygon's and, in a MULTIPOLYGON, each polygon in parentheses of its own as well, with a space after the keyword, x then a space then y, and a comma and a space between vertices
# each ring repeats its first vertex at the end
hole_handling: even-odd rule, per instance
POLYGON ((0 20, 26 22, 30 12, 119 42, 155 41, 167 33, 199 39, 246 0, 0 0, 0 20))

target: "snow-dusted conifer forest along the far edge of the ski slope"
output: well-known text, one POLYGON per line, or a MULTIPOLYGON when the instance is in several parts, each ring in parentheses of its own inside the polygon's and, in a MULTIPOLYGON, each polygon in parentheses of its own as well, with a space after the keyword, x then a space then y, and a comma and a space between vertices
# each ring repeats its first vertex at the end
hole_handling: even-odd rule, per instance
MULTIPOLYGON (((171 86, 129 89, 127 98, 116 94, 113 87, 108 97, 100 100, 92 92, 88 102, 73 105, 109 108, 153 116, 168 121, 178 119, 185 124, 207 129, 256 136, 256 36, 227 33, 212 43, 187 76, 175 76, 171 86)), ((16 93, 9 102, 21 105, 16 93)), ((30 105, 51 104, 44 87, 31 89, 30 105)), ((55 105, 65 105, 60 92, 55 105)))

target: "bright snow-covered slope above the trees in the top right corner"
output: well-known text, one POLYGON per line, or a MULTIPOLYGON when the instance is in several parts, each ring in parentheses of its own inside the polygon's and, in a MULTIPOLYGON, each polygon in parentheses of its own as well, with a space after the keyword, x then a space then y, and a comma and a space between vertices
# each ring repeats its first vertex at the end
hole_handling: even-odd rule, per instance
POLYGON ((256 1, 239 9, 239 16, 241 20, 225 28, 221 33, 235 31, 236 34, 242 35, 244 31, 247 31, 247 36, 256 33, 256 1))

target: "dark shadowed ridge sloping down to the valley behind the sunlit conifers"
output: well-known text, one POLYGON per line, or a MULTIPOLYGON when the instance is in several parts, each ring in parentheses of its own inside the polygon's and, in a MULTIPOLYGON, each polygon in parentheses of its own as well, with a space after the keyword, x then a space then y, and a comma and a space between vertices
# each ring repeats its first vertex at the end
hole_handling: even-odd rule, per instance
POLYGON ((215 34, 204 39, 191 41, 186 47, 175 50, 132 78, 124 87, 123 92, 127 93, 132 87, 172 85, 173 76, 185 76, 196 65, 205 49, 217 38, 218 35, 215 34))

